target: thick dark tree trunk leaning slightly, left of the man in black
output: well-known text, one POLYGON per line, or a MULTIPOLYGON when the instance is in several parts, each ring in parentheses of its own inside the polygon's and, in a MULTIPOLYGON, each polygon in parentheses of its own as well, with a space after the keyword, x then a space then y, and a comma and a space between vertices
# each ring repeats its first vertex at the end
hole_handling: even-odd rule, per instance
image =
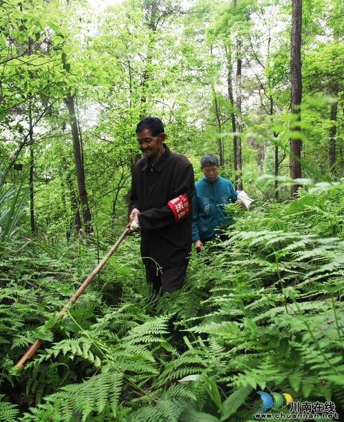
POLYGON ((72 139, 73 139, 73 151, 74 151, 74 163, 76 169, 76 180, 78 181, 78 193, 80 206, 83 212, 83 220, 85 224, 85 232, 89 233, 92 231, 91 226, 91 211, 89 210, 89 204, 87 199, 87 190, 85 184, 85 170, 83 165, 83 157, 81 155, 80 147, 80 136, 78 132, 78 122, 76 120, 75 107, 74 107, 74 96, 71 94, 67 95, 66 103, 69 112, 69 120, 72 127, 72 139))

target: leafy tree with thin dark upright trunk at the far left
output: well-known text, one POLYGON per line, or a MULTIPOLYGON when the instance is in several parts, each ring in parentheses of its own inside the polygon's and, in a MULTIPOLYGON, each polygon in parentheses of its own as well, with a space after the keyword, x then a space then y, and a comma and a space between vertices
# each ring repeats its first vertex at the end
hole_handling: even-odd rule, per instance
POLYGON ((0 127, 10 151, 8 169, 19 158, 29 161, 33 233, 40 226, 35 209, 37 149, 53 105, 63 102, 61 87, 67 72, 61 68, 61 59, 72 29, 70 18, 69 28, 65 25, 66 4, 56 0, 6 1, 0 9, 0 127))

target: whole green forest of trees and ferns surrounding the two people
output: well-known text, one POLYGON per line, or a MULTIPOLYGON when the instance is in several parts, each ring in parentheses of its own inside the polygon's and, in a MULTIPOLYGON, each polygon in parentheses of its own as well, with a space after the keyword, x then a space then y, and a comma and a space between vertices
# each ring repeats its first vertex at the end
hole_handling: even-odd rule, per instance
POLYGON ((0 421, 343 415, 343 2, 0 5, 0 421), (255 202, 180 291, 134 234, 58 321, 127 225, 143 116, 255 202))

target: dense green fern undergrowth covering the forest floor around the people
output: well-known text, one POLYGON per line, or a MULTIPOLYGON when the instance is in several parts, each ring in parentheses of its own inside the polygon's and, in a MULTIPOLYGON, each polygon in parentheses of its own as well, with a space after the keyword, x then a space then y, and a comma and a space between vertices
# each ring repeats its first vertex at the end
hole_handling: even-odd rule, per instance
POLYGON ((53 332, 110 242, 12 239, 0 420, 253 421, 259 390, 332 401, 343 418, 343 208, 343 184, 233 207, 228 240, 193 254, 182 290, 164 297, 145 284, 138 235, 127 237, 53 332))

